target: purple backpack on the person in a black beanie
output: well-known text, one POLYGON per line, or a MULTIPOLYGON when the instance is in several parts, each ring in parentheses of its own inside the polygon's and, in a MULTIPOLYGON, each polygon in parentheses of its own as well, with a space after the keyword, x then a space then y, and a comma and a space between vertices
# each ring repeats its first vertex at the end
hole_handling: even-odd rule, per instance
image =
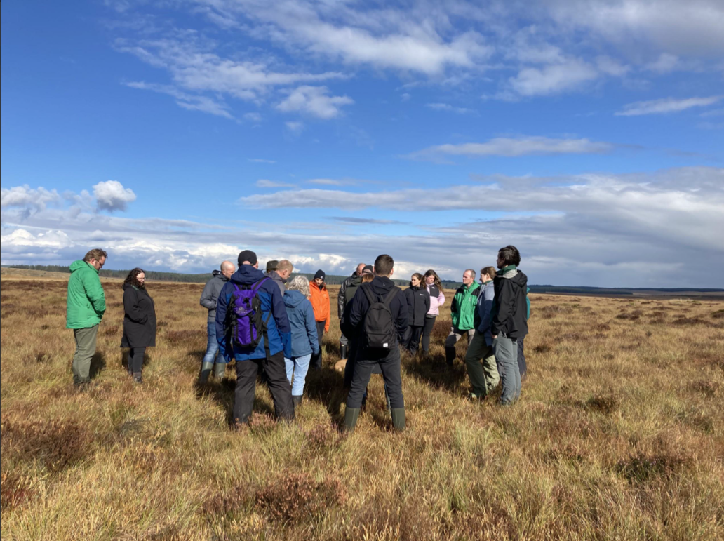
POLYGON ((253 285, 234 284, 234 292, 229 301, 229 321, 231 343, 240 348, 256 348, 262 335, 266 335, 266 324, 271 317, 271 310, 266 321, 261 319, 261 299, 258 290, 269 277, 264 277, 253 285))

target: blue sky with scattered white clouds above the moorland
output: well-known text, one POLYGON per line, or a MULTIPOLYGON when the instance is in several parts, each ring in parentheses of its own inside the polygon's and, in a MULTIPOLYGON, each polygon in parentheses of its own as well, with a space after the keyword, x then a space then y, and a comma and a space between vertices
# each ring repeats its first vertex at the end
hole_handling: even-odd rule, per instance
POLYGON ((724 287, 721 0, 4 2, 2 264, 724 287))

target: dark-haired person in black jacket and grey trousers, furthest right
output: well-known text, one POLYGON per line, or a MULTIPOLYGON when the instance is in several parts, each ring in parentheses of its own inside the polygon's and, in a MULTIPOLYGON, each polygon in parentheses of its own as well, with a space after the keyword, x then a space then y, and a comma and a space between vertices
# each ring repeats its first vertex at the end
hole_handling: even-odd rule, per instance
POLYGON ((528 334, 526 290, 528 277, 518 270, 521 253, 515 246, 498 251, 493 284, 495 305, 490 332, 502 384, 500 404, 510 406, 521 395, 521 371, 518 368, 518 340, 528 334))

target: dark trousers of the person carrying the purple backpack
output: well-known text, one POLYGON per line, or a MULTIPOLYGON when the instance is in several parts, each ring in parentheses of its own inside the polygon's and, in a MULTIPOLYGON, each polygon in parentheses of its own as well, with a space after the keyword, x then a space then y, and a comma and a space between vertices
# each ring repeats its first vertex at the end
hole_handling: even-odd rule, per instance
POLYGON ((256 374, 264 369, 266 383, 274 400, 274 414, 282 419, 294 419, 292 388, 287 380, 284 352, 274 353, 269 360, 255 358, 236 361, 236 388, 234 390, 234 422, 248 423, 254 408, 256 374))

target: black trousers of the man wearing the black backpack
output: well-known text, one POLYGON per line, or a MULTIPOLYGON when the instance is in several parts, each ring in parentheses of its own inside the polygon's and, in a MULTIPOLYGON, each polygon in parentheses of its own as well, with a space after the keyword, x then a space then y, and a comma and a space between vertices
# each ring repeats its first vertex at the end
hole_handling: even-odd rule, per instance
POLYGON ((390 408, 404 408, 403 379, 400 374, 400 348, 392 346, 387 355, 370 353, 366 350, 357 352, 350 394, 347 397, 348 408, 360 408, 367 390, 372 371, 379 366, 384 378, 384 387, 390 399, 390 408))

